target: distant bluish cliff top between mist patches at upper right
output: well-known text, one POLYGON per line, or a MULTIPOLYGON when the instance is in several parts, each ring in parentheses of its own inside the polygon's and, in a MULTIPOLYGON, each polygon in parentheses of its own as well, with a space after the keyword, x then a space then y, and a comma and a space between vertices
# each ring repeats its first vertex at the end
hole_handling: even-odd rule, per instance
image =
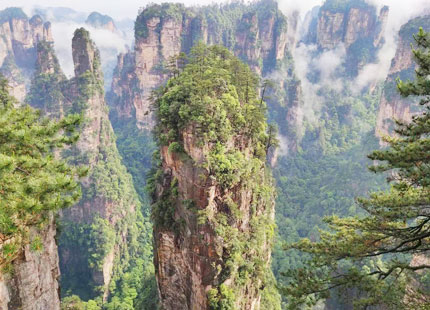
POLYGON ((374 47, 381 44, 388 7, 383 7, 379 17, 375 8, 361 0, 340 4, 326 1, 320 8, 316 31, 316 43, 322 49, 332 49, 343 43, 349 48, 358 40, 370 40, 374 47))

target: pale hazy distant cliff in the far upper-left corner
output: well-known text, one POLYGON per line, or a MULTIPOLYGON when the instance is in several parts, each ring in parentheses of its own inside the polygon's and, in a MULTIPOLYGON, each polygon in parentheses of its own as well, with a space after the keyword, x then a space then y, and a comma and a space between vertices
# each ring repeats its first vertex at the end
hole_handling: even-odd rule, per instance
POLYGON ((37 43, 52 42, 51 24, 38 15, 29 19, 21 9, 0 12, 0 73, 8 80, 11 94, 25 98, 36 62, 37 43))

